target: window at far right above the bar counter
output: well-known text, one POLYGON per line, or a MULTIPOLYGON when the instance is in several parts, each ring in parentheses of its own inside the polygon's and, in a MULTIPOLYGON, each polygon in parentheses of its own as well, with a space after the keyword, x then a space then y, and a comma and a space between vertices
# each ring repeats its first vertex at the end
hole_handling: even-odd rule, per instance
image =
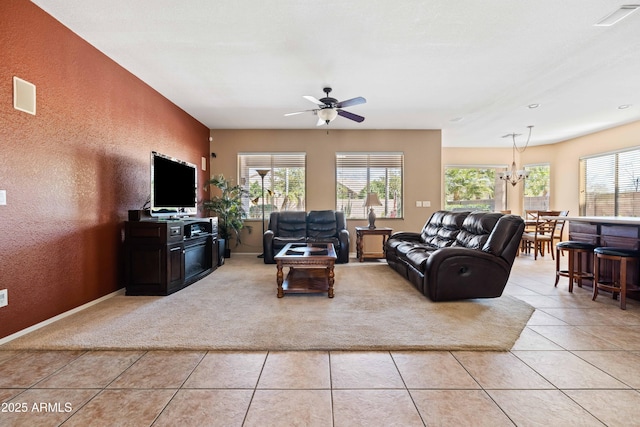
POLYGON ((580 159, 580 215, 640 216, 640 148, 580 159))

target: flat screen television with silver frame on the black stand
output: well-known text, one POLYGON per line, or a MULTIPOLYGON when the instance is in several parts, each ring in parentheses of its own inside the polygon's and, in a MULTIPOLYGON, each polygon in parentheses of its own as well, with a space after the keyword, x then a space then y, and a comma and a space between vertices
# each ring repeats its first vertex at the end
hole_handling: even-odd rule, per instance
POLYGON ((153 217, 197 214, 196 165, 151 152, 151 209, 153 217))

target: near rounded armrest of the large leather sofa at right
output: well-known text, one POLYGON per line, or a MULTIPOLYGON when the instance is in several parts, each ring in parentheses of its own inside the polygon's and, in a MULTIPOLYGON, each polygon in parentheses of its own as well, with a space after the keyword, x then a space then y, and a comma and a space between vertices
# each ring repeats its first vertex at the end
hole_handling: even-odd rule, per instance
POLYGON ((477 249, 434 251, 425 264, 424 290, 433 301, 495 298, 502 295, 511 265, 477 249))

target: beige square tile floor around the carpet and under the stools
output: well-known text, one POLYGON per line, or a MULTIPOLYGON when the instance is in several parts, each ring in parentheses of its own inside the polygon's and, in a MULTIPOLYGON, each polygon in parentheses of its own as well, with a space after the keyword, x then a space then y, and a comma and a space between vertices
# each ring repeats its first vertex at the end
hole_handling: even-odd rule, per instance
POLYGON ((509 352, 0 351, 0 425, 640 425, 640 302, 553 271, 516 260, 509 352))

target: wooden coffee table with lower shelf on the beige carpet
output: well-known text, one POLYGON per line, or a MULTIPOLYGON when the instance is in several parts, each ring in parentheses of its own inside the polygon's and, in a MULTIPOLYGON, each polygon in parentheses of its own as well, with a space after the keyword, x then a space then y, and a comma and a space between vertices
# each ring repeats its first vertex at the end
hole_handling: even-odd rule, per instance
POLYGON ((289 243, 274 257, 278 267, 278 298, 288 293, 323 293, 333 298, 336 263, 331 243, 289 243), (289 267, 284 279, 282 269, 289 267))

